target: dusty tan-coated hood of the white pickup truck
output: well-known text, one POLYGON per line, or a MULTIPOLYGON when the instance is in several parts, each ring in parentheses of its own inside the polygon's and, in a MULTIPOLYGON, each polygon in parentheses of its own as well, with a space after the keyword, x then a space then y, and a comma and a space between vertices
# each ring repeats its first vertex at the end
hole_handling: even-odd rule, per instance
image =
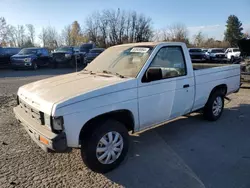
POLYGON ((76 102, 74 98, 79 98, 79 96, 83 95, 84 97, 81 97, 81 100, 86 100, 90 97, 103 94, 96 92, 94 95, 93 93, 87 95, 87 93, 100 90, 104 87, 114 86, 131 79, 119 78, 107 74, 71 73, 24 85, 19 88, 18 96, 21 100, 34 106, 39 111, 51 114, 54 104, 63 103, 69 105, 76 102))

